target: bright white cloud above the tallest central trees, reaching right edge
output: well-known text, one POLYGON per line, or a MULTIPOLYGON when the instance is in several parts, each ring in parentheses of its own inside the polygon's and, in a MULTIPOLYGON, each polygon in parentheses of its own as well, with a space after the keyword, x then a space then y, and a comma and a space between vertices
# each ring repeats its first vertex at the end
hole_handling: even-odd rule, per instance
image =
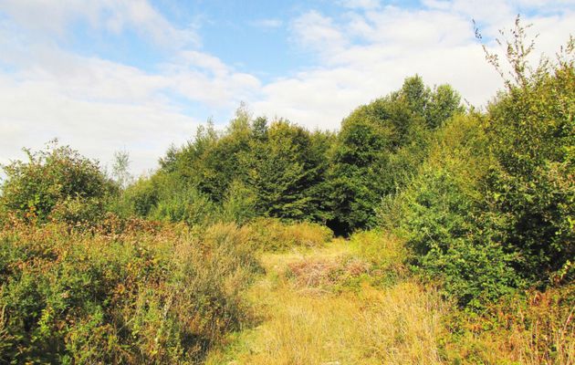
MULTIPOLYGON (((266 85, 257 113, 279 115, 307 125, 336 129, 357 106, 399 89, 415 73, 426 83, 450 83, 476 106, 495 96, 502 81, 485 60, 472 25, 484 34, 513 26, 518 6, 547 6, 548 1, 426 0, 423 8, 387 5, 338 19, 318 12, 294 21, 294 37, 320 59, 319 66, 266 85)), ((524 24, 538 33, 538 52, 548 55, 567 41, 575 12, 537 12, 524 24), (551 15, 549 15, 551 14, 551 15)), ((487 39, 488 46, 493 42, 487 39)))

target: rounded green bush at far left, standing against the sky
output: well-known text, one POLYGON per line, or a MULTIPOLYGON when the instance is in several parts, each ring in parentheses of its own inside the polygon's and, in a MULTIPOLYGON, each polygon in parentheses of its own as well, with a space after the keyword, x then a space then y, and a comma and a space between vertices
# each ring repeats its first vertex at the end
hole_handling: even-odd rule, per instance
MULTIPOLYGON (((100 171, 98 162, 84 158, 68 146, 57 146, 55 141, 45 151, 25 151, 27 162, 16 161, 4 166, 6 180, 0 198, 3 209, 19 217, 46 222, 57 207, 56 216, 64 211, 70 214, 76 211, 78 219, 89 218, 89 215, 96 218, 97 212, 86 212, 103 206, 117 190, 100 171), (79 207, 88 201, 94 206, 79 207), (81 210, 86 212, 80 214, 81 210)), ((70 214, 64 215, 72 219, 74 214, 70 214)))

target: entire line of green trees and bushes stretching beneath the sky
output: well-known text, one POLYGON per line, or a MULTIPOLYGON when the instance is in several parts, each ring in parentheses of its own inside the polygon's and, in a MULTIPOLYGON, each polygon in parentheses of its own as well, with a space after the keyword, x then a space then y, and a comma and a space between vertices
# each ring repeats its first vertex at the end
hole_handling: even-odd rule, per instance
MULTIPOLYGON (((517 25, 511 74, 485 111, 419 76, 353 110, 337 132, 239 108, 208 122, 129 186, 68 147, 5 166, 0 215, 90 224, 106 214, 192 226, 257 217, 326 224, 337 235, 385 227, 409 264, 462 306, 570 282, 575 256, 573 39, 529 68, 517 25)), ((491 56, 491 57, 489 57, 491 56)))

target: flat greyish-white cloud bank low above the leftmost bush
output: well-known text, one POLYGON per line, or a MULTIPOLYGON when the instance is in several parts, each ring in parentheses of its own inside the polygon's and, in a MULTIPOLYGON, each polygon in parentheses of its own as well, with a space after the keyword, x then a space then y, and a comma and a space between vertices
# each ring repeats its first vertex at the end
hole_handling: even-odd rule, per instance
POLYGON ((197 122, 156 104, 77 99, 65 89, 33 80, 0 79, 0 155, 20 158, 22 147, 62 143, 106 163, 114 151, 131 152, 132 171, 151 168, 172 142, 191 136, 197 122))

